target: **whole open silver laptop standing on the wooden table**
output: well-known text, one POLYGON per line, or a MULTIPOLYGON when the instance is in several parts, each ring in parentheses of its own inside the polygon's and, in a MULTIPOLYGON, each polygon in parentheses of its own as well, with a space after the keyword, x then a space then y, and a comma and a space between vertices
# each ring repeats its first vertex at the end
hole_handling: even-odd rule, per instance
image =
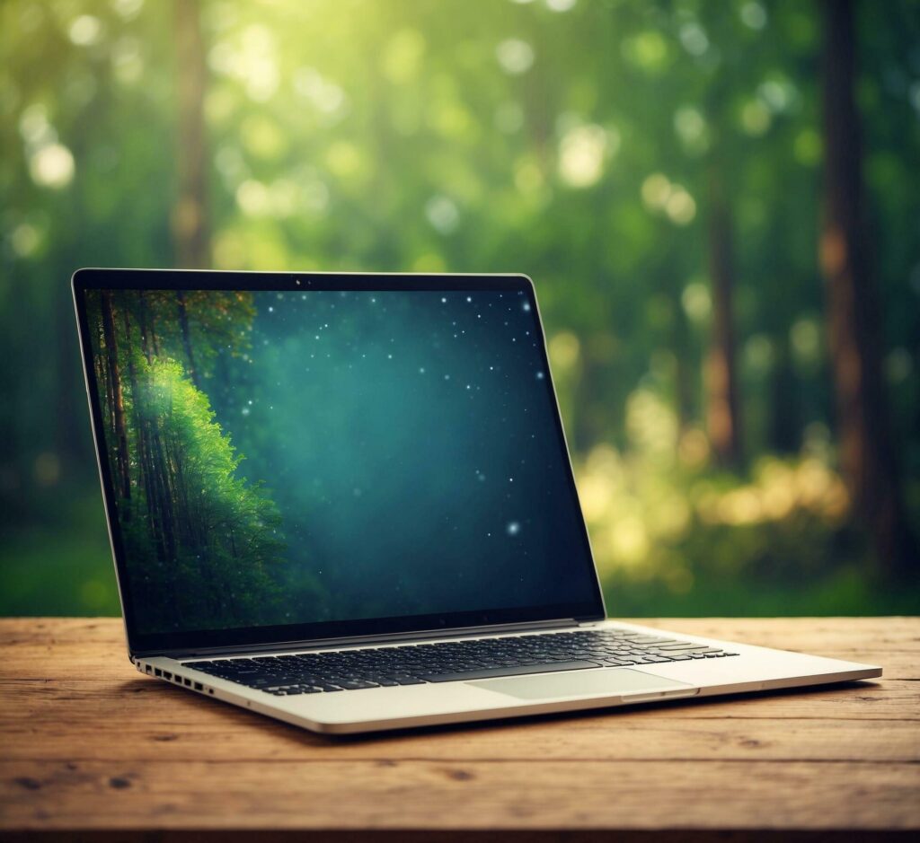
POLYGON ((343 734, 881 675, 607 619, 523 275, 73 290, 146 676, 343 734))

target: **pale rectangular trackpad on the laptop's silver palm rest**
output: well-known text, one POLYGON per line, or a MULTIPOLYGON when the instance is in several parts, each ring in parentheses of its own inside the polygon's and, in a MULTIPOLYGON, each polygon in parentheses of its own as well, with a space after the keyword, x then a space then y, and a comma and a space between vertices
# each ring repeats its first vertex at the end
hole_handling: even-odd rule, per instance
POLYGON ((552 700, 558 697, 581 697, 588 694, 629 696, 649 692, 655 697, 692 696, 696 689, 684 682, 619 667, 615 670, 566 670, 559 673, 539 673, 523 677, 478 679, 467 682, 477 688, 498 691, 519 700, 552 700), (676 693, 669 693, 676 691, 676 693))

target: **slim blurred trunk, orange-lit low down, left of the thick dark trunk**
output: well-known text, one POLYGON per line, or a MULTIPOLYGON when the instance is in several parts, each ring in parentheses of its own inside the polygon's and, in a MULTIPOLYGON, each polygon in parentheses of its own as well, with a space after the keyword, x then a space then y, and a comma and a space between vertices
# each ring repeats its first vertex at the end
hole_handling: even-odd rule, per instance
POLYGON ((741 421, 735 360, 734 234, 731 206, 719 164, 709 169, 709 272, 712 276, 712 336, 706 364, 707 428, 720 465, 742 461, 741 421))

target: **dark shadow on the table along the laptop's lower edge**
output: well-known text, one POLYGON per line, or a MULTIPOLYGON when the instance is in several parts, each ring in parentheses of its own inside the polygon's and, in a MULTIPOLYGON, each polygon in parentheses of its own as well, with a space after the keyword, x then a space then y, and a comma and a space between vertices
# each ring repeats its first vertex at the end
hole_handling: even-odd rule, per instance
MULTIPOLYGON (((857 679, 845 682, 834 682, 821 686, 803 686, 801 688, 783 688, 775 690, 750 691, 747 693, 737 694, 720 694, 718 697, 683 697, 679 700, 662 700, 658 702, 643 702, 636 705, 619 705, 611 708, 586 709, 583 711, 569 712, 549 712, 542 714, 527 714, 522 717, 501 717, 493 720, 467 721, 465 723, 436 723, 430 726, 414 726, 404 729, 388 729, 382 732, 372 732, 364 735, 320 735, 316 732, 310 732, 308 729, 295 726, 292 723, 284 723, 281 720, 275 720, 259 712, 248 711, 229 702, 217 699, 211 701, 195 700, 192 697, 198 697, 194 692, 189 693, 187 689, 175 688, 167 685, 162 681, 151 681, 150 679, 136 678, 122 683, 122 689, 126 693, 160 693, 162 691, 174 691, 178 694, 182 692, 182 697, 189 699, 193 704, 209 705, 213 707, 215 702, 221 703, 225 712, 236 714, 239 723, 249 728, 251 725, 261 723, 263 728, 270 728, 278 735, 288 735, 298 743, 316 746, 347 746, 352 744, 374 744, 386 740, 392 740, 397 737, 411 738, 421 735, 451 734, 454 732, 483 732, 489 729, 507 728, 515 725, 533 724, 533 723, 552 723, 566 720, 591 720, 602 717, 615 717, 617 714, 652 711, 666 708, 694 708, 702 705, 730 704, 742 700, 759 700, 759 699, 777 699, 782 697, 806 697, 810 695, 831 696, 834 692, 842 692, 853 689, 875 689, 880 688, 881 683, 872 679, 857 679)), ((863 701, 873 701, 875 697, 861 697, 863 701)))

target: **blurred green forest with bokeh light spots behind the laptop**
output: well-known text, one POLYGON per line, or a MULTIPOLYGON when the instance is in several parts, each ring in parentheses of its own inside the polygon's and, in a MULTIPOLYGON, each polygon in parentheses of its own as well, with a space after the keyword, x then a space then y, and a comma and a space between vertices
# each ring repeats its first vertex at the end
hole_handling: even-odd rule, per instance
POLYGON ((914 613, 918 167, 915 0, 6 0, 0 614, 118 612, 83 266, 526 272, 611 613, 914 613))

